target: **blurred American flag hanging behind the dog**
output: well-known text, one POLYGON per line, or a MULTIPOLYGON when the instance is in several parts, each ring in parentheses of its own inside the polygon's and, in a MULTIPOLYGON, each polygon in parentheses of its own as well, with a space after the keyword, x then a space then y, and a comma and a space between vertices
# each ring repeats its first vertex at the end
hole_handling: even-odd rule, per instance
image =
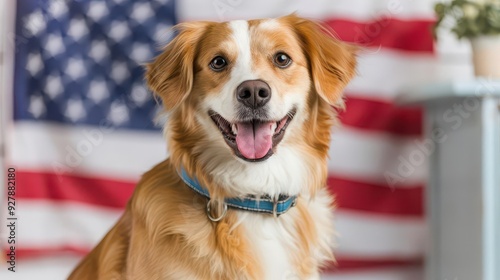
POLYGON ((408 163, 422 111, 395 98, 457 74, 436 55, 432 1, 22 0, 15 11, 13 113, 3 117, 6 166, 17 169, 20 265, 5 275, 65 278, 117 221, 141 174, 167 157, 142 65, 174 24, 297 11, 365 47, 333 131, 338 264, 323 278, 423 278, 427 165, 408 163))

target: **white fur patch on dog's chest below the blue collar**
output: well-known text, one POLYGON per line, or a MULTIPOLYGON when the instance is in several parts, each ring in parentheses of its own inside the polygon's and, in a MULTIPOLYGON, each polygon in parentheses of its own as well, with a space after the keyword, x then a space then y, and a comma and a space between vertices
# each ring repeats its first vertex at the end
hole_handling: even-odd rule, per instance
POLYGON ((264 279, 294 279, 295 270, 290 258, 293 240, 286 232, 282 220, 270 215, 242 212, 243 226, 257 260, 264 272, 264 279))

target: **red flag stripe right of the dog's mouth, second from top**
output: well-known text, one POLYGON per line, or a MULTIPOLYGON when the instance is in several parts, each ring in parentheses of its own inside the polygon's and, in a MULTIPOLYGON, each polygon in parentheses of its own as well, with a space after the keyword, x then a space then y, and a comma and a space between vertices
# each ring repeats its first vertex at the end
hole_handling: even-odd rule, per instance
POLYGON ((344 125, 404 136, 422 135, 422 108, 397 107, 391 102, 349 97, 339 114, 344 125))

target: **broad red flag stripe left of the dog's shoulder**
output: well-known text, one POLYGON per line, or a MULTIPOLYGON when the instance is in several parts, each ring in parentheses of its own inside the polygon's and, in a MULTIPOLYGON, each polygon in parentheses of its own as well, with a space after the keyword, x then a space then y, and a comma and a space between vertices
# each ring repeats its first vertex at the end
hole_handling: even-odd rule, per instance
POLYGON ((105 207, 124 208, 135 182, 58 175, 50 172, 17 171, 18 198, 72 200, 105 207))

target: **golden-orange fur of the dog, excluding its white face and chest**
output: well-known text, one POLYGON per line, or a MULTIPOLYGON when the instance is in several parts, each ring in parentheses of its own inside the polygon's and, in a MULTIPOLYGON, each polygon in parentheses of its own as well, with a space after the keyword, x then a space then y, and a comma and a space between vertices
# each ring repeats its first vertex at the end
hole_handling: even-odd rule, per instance
MULTIPOLYGON (((262 21, 249 21, 249 26, 256 28, 262 21)), ((309 88, 304 92, 304 120, 286 138, 286 145, 302 155, 309 176, 296 207, 277 218, 293 238, 294 246, 286 250, 297 268, 294 275, 306 279, 333 259, 331 216, 317 217, 313 209, 320 194, 331 202, 324 188, 335 122, 331 106, 342 107, 342 89, 355 72, 355 50, 312 21, 295 15, 276 21, 278 29, 250 29, 260 37, 252 41, 253 69, 276 80, 280 94, 286 95, 296 83, 309 88), (256 41, 268 43, 253 45, 256 41), (267 52, 274 48, 291 53, 296 68, 285 72, 269 64, 267 52)), ((220 186, 211 172, 233 155, 226 149, 220 157, 206 159, 209 140, 196 117, 205 98, 217 95, 229 80, 230 71, 217 75, 207 69, 206 61, 218 54, 220 44, 227 45, 223 50, 229 60, 237 59, 226 41, 231 31, 227 23, 214 22, 183 23, 177 30, 179 35, 146 73, 150 88, 170 114, 165 129, 170 158, 144 174, 123 216, 69 279, 265 279, 255 244, 239 220, 240 210, 229 209, 220 222, 211 222, 206 199, 186 187, 177 173, 182 166, 198 178, 214 201, 239 195, 220 186)))

